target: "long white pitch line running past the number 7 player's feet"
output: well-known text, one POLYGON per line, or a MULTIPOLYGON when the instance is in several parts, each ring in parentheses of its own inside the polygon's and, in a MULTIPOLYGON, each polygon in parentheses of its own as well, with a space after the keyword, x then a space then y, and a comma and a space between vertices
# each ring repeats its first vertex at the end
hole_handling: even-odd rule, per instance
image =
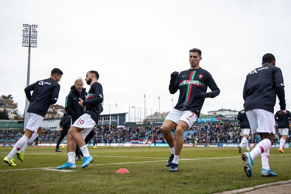
MULTIPOLYGON (((291 155, 291 154, 272 154, 271 156, 278 155, 278 156, 284 156, 284 155, 291 155)), ((179 159, 181 160, 206 160, 206 159, 223 159, 223 158, 238 158, 241 156, 228 156, 228 157, 217 157, 217 158, 192 158, 192 159, 179 159)), ((115 165, 115 164, 135 164, 135 163, 148 163, 148 162, 162 162, 167 160, 155 160, 155 161, 142 161, 142 162, 120 162, 120 163, 106 163, 106 164, 91 164, 90 166, 98 166, 98 165, 115 165)), ((77 165, 81 166, 81 165, 77 165)), ((42 168, 23 168, 23 169, 9 169, 9 170, 0 170, 0 172, 3 171, 15 171, 15 170, 36 170, 36 169, 44 169, 44 168, 56 168, 56 167, 42 167, 42 168)))

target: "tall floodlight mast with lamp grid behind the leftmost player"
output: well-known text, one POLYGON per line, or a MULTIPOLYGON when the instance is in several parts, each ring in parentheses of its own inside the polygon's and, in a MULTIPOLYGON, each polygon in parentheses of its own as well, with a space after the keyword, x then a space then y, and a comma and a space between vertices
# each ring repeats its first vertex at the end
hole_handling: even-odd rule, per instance
MULTIPOLYGON (((27 78, 26 86, 29 86, 29 76, 30 76, 30 47, 37 47, 37 25, 23 24, 22 29, 22 47, 28 47, 28 64, 27 64, 27 78)), ((25 97, 25 112, 24 112, 24 125, 23 130, 25 131, 27 120, 27 109, 28 109, 28 99, 25 97)))

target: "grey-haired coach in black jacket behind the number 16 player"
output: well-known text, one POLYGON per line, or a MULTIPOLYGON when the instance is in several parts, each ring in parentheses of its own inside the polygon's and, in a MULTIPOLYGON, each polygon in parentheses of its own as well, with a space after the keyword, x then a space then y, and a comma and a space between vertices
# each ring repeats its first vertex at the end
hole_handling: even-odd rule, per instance
MULTIPOLYGON (((74 122, 84 113, 84 107, 79 105, 79 98, 85 101, 88 94, 85 91, 86 88, 83 88, 83 85, 84 83, 82 78, 76 79, 74 85, 71 87, 70 93, 66 97, 65 110, 67 113, 69 113, 69 115, 71 115, 72 124, 74 124, 74 122)), ((94 135, 95 132, 94 129, 92 129, 92 131, 90 131, 90 133, 86 136, 85 143, 87 144, 94 135)), ((75 152, 77 155, 76 160, 82 160, 80 156, 81 152, 78 145, 76 145, 75 152)))

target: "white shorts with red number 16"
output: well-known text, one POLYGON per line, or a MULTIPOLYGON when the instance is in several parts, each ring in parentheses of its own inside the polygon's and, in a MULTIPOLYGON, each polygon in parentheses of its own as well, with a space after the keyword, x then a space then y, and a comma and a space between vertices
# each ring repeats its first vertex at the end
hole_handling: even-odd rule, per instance
POLYGON ((96 122, 91 118, 90 115, 84 114, 80 116, 72 125, 74 127, 83 128, 82 131, 79 132, 85 139, 85 137, 92 131, 92 129, 96 126, 96 122))

